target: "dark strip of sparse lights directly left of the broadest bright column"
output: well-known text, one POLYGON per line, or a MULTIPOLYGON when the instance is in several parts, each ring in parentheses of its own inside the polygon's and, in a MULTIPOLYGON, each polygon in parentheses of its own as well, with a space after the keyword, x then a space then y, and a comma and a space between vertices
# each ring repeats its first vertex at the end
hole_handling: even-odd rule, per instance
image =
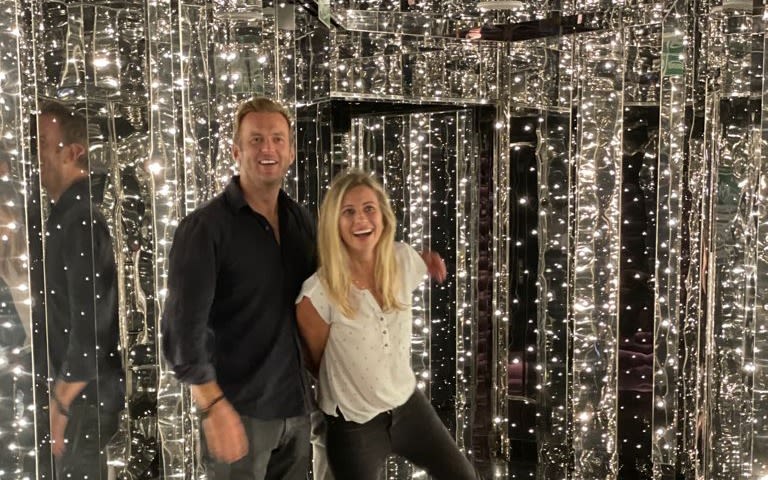
POLYGON ((538 478, 568 476, 569 416, 569 234, 573 208, 570 161, 573 119, 573 37, 548 42, 542 74, 559 78, 550 86, 553 97, 544 98, 545 110, 538 130, 536 150, 539 178, 539 261, 537 380, 538 478))

